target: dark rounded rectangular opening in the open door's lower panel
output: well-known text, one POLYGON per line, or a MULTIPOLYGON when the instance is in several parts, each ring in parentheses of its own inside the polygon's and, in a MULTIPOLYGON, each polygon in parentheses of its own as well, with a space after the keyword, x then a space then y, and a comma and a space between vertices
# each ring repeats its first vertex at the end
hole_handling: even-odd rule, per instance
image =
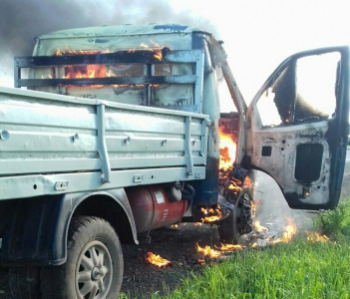
POLYGON ((323 145, 303 143, 297 147, 294 177, 298 181, 313 182, 321 174, 323 145))

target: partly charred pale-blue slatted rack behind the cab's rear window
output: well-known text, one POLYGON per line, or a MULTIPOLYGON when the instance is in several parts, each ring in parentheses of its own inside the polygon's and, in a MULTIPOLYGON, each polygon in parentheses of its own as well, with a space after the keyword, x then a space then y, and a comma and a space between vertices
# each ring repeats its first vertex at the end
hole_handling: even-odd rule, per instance
POLYGON ((193 112, 202 112, 202 96, 204 81, 204 50, 177 50, 162 49, 162 58, 156 58, 155 52, 148 50, 118 51, 105 54, 78 54, 67 56, 36 56, 16 57, 14 81, 15 87, 58 87, 58 86, 90 86, 90 85, 144 85, 144 103, 150 104, 150 87, 163 84, 191 84, 193 85, 194 103, 190 106, 167 107, 193 112), (114 64, 142 64, 146 66, 146 72, 138 77, 100 77, 100 78, 53 78, 49 79, 22 79, 23 68, 59 68, 65 66, 84 65, 114 65, 114 64), (154 66, 157 64, 182 64, 193 65, 193 75, 156 76, 154 66))

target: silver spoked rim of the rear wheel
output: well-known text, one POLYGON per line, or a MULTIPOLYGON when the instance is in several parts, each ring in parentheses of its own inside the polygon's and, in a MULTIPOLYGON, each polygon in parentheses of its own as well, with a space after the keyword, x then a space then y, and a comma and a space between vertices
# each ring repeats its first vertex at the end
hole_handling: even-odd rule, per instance
POLYGON ((112 257, 107 246, 99 240, 86 244, 75 273, 79 299, 106 298, 113 277, 112 257))

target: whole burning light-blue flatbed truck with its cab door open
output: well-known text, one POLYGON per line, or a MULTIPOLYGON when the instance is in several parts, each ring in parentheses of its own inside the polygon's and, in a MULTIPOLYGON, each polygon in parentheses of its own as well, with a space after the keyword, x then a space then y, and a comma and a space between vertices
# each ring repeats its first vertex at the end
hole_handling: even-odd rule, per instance
POLYGON ((16 88, 0 88, 0 296, 116 298, 120 244, 181 221, 237 242, 253 169, 292 208, 337 206, 349 49, 291 56, 247 107, 221 44, 182 25, 104 26, 15 58, 16 88))

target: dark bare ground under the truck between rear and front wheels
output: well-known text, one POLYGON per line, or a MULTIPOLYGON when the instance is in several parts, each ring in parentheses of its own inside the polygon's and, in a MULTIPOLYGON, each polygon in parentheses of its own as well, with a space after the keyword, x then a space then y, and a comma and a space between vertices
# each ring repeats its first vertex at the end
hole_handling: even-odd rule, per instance
MULTIPOLYGON (((124 278, 122 292, 129 298, 149 298, 151 293, 164 293, 173 290, 190 273, 199 273, 203 266, 198 259, 196 243, 200 246, 219 243, 215 225, 183 223, 178 228, 163 228, 151 232, 151 243, 139 246, 124 245, 124 278), (159 269, 145 258, 147 252, 153 252, 170 260, 171 266, 159 269)), ((140 238, 142 241, 142 238, 140 238)))

